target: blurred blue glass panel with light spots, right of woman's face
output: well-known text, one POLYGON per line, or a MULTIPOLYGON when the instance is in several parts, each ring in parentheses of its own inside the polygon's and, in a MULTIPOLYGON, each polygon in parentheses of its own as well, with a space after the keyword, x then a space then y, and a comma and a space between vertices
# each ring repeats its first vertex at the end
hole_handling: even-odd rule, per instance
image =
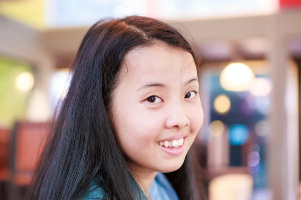
MULTIPOLYGON (((267 68, 263 60, 243 63, 251 70, 267 68)), ((209 119, 206 120, 209 128, 206 138, 202 140, 207 145, 206 173, 210 177, 207 180, 209 188, 213 180, 223 175, 248 174, 253 182, 252 199, 269 199, 266 139, 270 134, 267 114, 270 110, 271 80, 267 73, 252 70, 254 77, 249 81, 248 89, 225 89, 221 74, 228 64, 229 62, 208 63, 202 75, 209 79, 209 84, 206 84, 209 87, 207 109, 210 111, 207 116, 209 119)), ((235 74, 228 74, 233 82, 244 75, 243 71, 234 72, 235 74)), ((247 77, 240 80, 245 79, 247 77)), ((236 84, 241 87, 244 83, 236 84)), ((238 181, 234 181, 232 186, 238 188, 238 184, 238 181)))

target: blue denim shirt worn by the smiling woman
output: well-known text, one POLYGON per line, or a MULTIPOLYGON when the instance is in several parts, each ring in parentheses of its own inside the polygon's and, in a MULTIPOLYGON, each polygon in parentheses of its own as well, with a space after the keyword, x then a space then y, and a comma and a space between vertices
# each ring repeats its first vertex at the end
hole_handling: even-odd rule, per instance
MULTIPOLYGON (((144 192, 139 187, 138 191, 135 188, 135 182, 130 181, 130 186, 133 190, 134 198, 139 200, 147 200, 144 192)), ((164 175, 158 173, 152 185, 150 186, 149 195, 152 200, 179 200, 176 191, 164 175)), ((87 193, 78 199, 92 200, 92 199, 107 199, 106 193, 102 187, 96 184, 96 181, 91 181, 87 193)))

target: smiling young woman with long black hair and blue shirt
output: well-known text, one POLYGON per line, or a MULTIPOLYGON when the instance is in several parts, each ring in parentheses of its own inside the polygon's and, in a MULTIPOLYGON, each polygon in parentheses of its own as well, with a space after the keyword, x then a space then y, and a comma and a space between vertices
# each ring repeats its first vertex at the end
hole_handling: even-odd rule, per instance
POLYGON ((165 22, 94 24, 26 199, 201 199, 190 159, 203 123, 198 66, 165 22))

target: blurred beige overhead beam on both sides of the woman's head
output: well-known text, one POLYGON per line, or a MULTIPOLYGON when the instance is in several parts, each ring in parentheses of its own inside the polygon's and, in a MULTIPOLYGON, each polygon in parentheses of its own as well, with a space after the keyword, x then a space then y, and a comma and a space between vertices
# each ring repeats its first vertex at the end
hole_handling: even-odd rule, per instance
MULTIPOLYGON (((196 51, 204 60, 228 61, 264 58, 269 51, 269 37, 274 32, 282 35, 281 32, 285 32, 285 39, 289 39, 290 54, 301 58, 300 18, 299 10, 290 10, 272 15, 169 22, 183 32, 189 32, 186 36, 189 40, 193 38, 196 51), (276 26, 273 26, 274 23, 276 26)), ((71 63, 89 28, 82 26, 37 30, 1 15, 0 24, 5 27, 0 31, 0 54, 34 63, 43 62, 43 56, 47 55, 55 57, 58 67, 66 67, 71 63)))

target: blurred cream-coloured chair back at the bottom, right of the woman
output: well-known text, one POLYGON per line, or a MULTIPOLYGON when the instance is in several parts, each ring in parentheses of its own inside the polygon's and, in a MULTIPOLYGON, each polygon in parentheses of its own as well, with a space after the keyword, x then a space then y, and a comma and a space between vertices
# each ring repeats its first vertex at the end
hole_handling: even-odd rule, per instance
POLYGON ((253 178, 249 174, 225 174, 209 183, 209 200, 250 200, 253 178))

